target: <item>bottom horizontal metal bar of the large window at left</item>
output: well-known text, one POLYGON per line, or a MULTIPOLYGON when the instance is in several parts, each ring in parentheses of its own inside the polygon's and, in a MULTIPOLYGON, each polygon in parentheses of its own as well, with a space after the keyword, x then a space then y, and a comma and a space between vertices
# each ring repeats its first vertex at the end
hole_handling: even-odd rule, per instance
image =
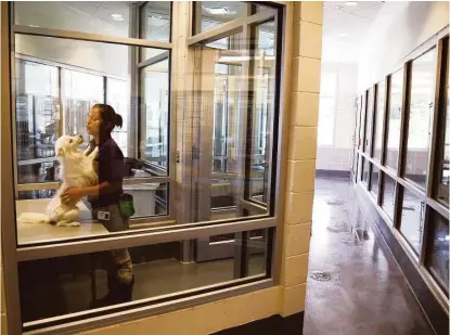
MULTIPOLYGON (((114 312, 117 308, 106 307, 103 308, 103 313, 111 311, 110 314, 104 314, 101 318, 90 318, 89 314, 92 314, 92 311, 88 312, 78 312, 72 315, 77 315, 79 321, 64 322, 64 319, 69 317, 56 317, 50 319, 51 321, 61 320, 62 324, 49 326, 41 330, 35 330, 27 332, 29 335, 56 335, 56 334, 73 334, 79 333, 80 330, 88 331, 92 328, 106 327, 108 325, 120 324, 125 322, 130 322, 139 320, 142 318, 149 318, 152 315, 160 315, 164 313, 171 312, 173 310, 181 310, 184 308, 192 308, 195 306, 205 305, 208 302, 220 301, 227 298, 232 298, 237 295, 248 294, 252 292, 257 292, 263 288, 269 288, 273 286, 273 281, 270 279, 263 280, 263 276, 250 276, 242 280, 229 281, 221 284, 214 284, 202 288, 193 288, 189 291, 183 291, 179 293, 167 294, 163 297, 149 298, 142 300, 142 302, 130 302, 124 304, 126 308, 121 308, 120 311, 114 312), (261 280, 259 280, 261 279, 261 280), (203 292, 202 294, 200 294, 203 292), (178 297, 178 299, 177 299, 178 297), (175 300, 177 299, 177 300, 175 300), (158 300, 160 302, 158 302, 158 300), (146 302, 147 301, 147 302, 146 302), (155 301, 155 305, 146 305, 155 301), (128 307, 129 306, 129 307, 128 307), (133 307, 136 306, 136 307, 133 307), (86 317, 83 317, 86 314, 86 317), (64 322, 64 323, 63 323, 64 322)), ((33 323, 27 323, 29 326, 40 325, 44 326, 44 323, 49 323, 48 320, 37 321, 33 323)))

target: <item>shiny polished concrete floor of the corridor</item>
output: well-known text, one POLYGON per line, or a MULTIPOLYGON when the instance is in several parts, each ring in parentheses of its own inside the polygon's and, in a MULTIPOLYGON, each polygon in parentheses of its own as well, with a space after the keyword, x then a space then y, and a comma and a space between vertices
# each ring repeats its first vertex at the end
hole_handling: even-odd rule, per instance
POLYGON ((317 179, 304 335, 434 334, 380 243, 350 181, 317 179))

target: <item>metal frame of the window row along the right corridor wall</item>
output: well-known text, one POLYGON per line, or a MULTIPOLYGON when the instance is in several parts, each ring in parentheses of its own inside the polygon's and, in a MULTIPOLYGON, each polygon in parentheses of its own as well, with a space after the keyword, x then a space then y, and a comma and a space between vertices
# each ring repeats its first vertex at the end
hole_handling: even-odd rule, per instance
MULTIPOLYGON (((417 268, 421 276, 424 279, 425 283, 428 285, 430 291, 435 294, 437 301, 441 305, 441 307, 449 312, 449 305, 448 298, 443 289, 437 283, 426 268, 426 258, 429 254, 429 231, 432 229, 430 218, 435 214, 439 214, 445 219, 449 220, 450 218, 450 210, 443 204, 438 202, 434 198, 436 195, 434 189, 436 186, 436 178, 434 178, 434 173, 437 171, 436 167, 436 144, 438 138, 442 138, 439 133, 443 131, 445 123, 442 121, 439 124, 439 120, 442 120, 443 116, 440 113, 441 108, 446 108, 446 105, 442 103, 445 100, 442 94, 442 82, 446 75, 446 70, 442 68, 443 66, 443 59, 448 56, 448 44, 445 46, 445 40, 449 39, 449 27, 441 29, 432 38, 429 38, 426 42, 417 47, 413 52, 407 55, 401 62, 396 65, 396 69, 401 68, 403 66, 403 93, 402 93, 402 111, 401 111, 401 124, 400 124, 400 141, 399 141, 399 156, 397 160, 397 169, 394 170, 393 168, 386 166, 387 159, 387 143, 388 143, 388 131, 389 131, 389 114, 390 114, 390 89, 391 89, 391 75, 396 73, 388 74, 385 77, 386 82, 386 92, 385 92, 385 117, 383 123, 383 141, 382 141, 382 153, 381 153, 381 160, 372 157, 369 153, 363 152, 363 150, 358 149, 359 155, 362 157, 361 159, 369 160, 373 166, 376 166, 380 169, 380 183, 378 183, 378 196, 375 198, 370 196, 369 198, 375 204, 376 210, 381 214, 386 222, 393 223, 391 226, 387 224, 388 228, 391 230, 396 239, 399 241, 403 252, 408 255, 411 259, 412 263, 417 268), (408 142, 408 127, 409 127, 409 105, 410 105, 410 98, 411 98, 411 65, 412 62, 417 59, 419 56, 423 55, 424 53, 428 52, 433 48, 437 50, 437 62, 436 62, 436 86, 434 91, 434 101, 435 101, 435 108, 433 111, 433 118, 432 118, 432 136, 430 136, 430 144, 428 151, 428 163, 427 163, 427 175, 426 175, 426 186, 425 190, 420 188, 416 183, 412 182, 411 180, 404 178, 404 164, 406 164, 406 154, 407 154, 407 142, 408 142), (446 53, 442 55, 442 50, 446 49, 446 53), (382 204, 384 197, 384 180, 386 177, 390 177, 394 182, 396 183, 396 192, 395 192, 395 208, 394 208, 394 219, 390 219, 387 214, 384 211, 382 204), (403 203, 403 193, 404 191, 412 192, 415 194, 420 199, 423 201, 425 204, 425 210, 423 216, 423 230, 421 235, 420 242, 420 250, 416 253, 407 239, 400 232, 400 224, 401 224, 401 207, 403 203)), ((447 42, 448 43, 448 42, 447 42)), ((367 119, 363 120, 367 123, 367 119)), ((358 179, 358 184, 361 189, 363 189, 367 193, 370 193, 363 186, 363 183, 360 182, 361 178, 358 179)))

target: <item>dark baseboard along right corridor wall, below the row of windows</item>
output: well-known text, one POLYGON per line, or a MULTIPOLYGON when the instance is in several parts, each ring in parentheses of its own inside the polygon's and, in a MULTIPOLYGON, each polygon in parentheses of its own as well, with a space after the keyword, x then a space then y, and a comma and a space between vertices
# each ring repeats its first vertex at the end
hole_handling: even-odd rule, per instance
POLYGON ((439 305, 417 268, 407 255, 386 221, 380 215, 374 201, 370 197, 369 193, 359 185, 357 185, 356 189, 358 201, 360 205, 362 205, 361 209, 363 210, 364 216, 370 218, 371 221, 376 224, 377 229, 373 229, 376 240, 384 240, 386 242, 386 244, 381 243, 382 248, 387 247, 388 252, 390 252, 397 260, 397 263, 403 272, 406 280, 436 334, 448 335, 449 317, 447 312, 439 305))

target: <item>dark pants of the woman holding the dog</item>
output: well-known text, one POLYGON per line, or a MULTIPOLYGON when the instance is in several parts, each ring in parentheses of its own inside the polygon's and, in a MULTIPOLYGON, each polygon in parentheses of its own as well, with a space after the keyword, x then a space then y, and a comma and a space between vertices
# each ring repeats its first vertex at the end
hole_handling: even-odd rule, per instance
MULTIPOLYGON (((99 220, 110 232, 118 232, 129 229, 129 219, 121 215, 118 204, 92 209, 92 217, 98 220, 99 211, 110 212, 110 220, 99 220)), ((108 275, 114 276, 123 284, 131 283, 133 269, 128 249, 111 250, 112 266, 107 267, 108 275)))

